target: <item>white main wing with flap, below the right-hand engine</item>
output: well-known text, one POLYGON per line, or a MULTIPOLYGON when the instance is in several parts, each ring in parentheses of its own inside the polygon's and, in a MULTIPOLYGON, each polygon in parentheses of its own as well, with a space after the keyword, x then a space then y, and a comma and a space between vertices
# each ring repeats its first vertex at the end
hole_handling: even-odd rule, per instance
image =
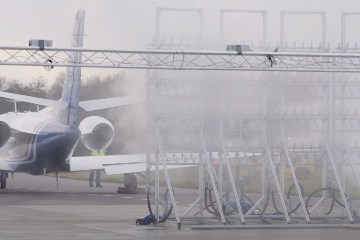
MULTIPOLYGON (((167 169, 194 167, 194 165, 169 165, 167 169)), ((160 169, 162 165, 159 166, 160 169)), ((107 175, 145 172, 146 155, 108 155, 108 156, 89 156, 89 157, 71 157, 70 171, 88 171, 104 169, 107 175)), ((150 171, 155 170, 152 166, 150 171)))

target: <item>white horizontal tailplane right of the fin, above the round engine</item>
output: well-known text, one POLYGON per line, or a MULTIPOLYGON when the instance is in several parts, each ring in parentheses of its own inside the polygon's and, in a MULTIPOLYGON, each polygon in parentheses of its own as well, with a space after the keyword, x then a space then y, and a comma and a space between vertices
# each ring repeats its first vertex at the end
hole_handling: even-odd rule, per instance
POLYGON ((79 102, 79 106, 85 111, 89 112, 89 111, 105 109, 105 108, 120 107, 123 105, 128 105, 133 103, 140 103, 143 101, 146 101, 146 99, 135 96, 123 96, 117 98, 81 101, 79 102))

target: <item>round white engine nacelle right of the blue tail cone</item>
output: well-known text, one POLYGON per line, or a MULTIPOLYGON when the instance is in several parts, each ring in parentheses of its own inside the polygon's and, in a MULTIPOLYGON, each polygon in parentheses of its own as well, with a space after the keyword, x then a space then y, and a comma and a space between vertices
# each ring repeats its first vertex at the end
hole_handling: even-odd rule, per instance
POLYGON ((106 149, 114 138, 114 127, 107 119, 90 116, 81 121, 81 142, 91 151, 106 149))

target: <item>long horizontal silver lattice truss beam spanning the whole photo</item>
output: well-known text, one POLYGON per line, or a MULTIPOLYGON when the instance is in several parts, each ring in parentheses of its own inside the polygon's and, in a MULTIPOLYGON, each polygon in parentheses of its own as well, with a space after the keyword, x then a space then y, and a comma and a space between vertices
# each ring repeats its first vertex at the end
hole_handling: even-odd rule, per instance
POLYGON ((360 54, 0 46, 0 65, 357 73, 360 54))

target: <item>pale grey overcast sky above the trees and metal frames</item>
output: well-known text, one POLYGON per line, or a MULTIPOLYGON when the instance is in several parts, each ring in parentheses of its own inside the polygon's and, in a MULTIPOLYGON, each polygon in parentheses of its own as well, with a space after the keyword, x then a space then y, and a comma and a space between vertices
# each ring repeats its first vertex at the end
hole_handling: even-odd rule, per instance
MULTIPOLYGON (((267 35, 272 45, 279 40, 280 10, 326 11, 327 41, 337 46, 341 40, 341 12, 360 12, 359 0, 1 0, 0 1, 0 45, 27 45, 29 39, 51 39, 54 46, 70 44, 75 14, 79 6, 86 9, 84 47, 146 48, 155 35, 156 7, 203 8, 204 39, 213 48, 219 40, 220 9, 267 10, 267 35)), ((360 16, 347 18, 346 38, 354 45, 360 40, 360 16)), ((162 12, 160 35, 165 40, 198 37, 199 19, 196 13, 162 12)), ((228 43, 242 43, 262 38, 260 14, 227 14, 225 16, 225 39, 228 43)), ((302 41, 318 46, 321 41, 320 15, 285 17, 285 39, 289 45, 302 41)), ((225 49, 225 45, 223 47, 225 49)), ((44 76, 53 81, 63 68, 46 72, 42 67, 0 66, 0 76, 31 81, 32 77, 44 76)), ((113 69, 83 69, 88 76, 93 73, 111 74, 113 69)), ((125 70, 129 77, 145 76, 145 70, 125 70)))

